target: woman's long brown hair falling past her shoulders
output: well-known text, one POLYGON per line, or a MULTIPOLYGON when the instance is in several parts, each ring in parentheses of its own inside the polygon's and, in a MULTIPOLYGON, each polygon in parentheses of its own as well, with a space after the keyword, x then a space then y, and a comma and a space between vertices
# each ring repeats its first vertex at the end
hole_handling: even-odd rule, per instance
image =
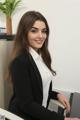
POLYGON ((12 61, 22 52, 24 48, 29 50, 29 43, 27 38, 28 32, 37 20, 43 21, 47 29, 47 37, 42 48, 39 49, 39 53, 41 54, 44 63, 51 70, 53 75, 55 75, 56 72, 51 68, 51 56, 48 51, 49 26, 45 17, 37 11, 28 11, 22 16, 18 25, 17 34, 15 36, 12 61))

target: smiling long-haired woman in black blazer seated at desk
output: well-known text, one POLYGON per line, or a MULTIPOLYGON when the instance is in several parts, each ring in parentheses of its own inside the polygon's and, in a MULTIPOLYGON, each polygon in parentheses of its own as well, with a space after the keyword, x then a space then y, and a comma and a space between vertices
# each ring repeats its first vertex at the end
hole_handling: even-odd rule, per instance
POLYGON ((52 98, 70 111, 65 96, 52 91, 52 79, 56 73, 51 68, 48 37, 49 26, 41 13, 29 11, 22 16, 9 68, 13 83, 9 110, 26 120, 73 120, 47 109, 52 98))

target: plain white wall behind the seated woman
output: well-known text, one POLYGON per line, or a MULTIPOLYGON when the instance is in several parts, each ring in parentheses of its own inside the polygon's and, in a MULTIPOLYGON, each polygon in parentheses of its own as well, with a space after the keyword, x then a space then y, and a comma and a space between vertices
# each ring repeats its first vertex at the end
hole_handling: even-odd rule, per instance
MULTIPOLYGON (((40 11, 50 25, 49 49, 57 71, 54 88, 80 92, 80 0, 22 0, 13 15, 13 33, 28 10, 40 11)), ((0 26, 5 26, 1 16, 0 26)))

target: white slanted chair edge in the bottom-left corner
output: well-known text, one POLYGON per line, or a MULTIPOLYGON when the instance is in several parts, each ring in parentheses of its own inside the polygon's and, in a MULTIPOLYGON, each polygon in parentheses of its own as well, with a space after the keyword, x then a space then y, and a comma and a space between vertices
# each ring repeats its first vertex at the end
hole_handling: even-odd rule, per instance
POLYGON ((0 116, 3 116, 3 119, 0 119, 0 120, 4 120, 4 118, 7 118, 9 120, 24 120, 23 118, 2 108, 0 108, 0 116))

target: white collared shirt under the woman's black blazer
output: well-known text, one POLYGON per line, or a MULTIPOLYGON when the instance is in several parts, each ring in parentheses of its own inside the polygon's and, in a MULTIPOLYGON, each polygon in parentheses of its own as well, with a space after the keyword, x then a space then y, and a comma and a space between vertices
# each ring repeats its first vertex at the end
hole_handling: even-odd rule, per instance
POLYGON ((53 75, 51 71, 48 69, 48 67, 45 65, 43 62, 41 56, 33 49, 30 47, 30 54, 32 55, 42 78, 42 83, 43 83, 43 102, 42 105, 46 107, 47 105, 47 99, 48 99, 48 92, 49 92, 49 86, 50 82, 53 79, 53 75))

